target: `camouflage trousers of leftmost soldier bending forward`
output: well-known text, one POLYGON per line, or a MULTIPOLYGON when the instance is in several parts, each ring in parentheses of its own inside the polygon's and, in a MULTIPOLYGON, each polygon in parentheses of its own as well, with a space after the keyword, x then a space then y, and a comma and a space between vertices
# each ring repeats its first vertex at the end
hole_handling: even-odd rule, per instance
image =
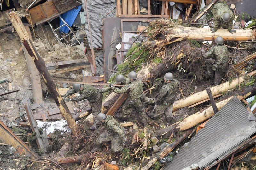
POLYGON ((99 120, 97 119, 97 115, 101 112, 102 98, 103 95, 99 93, 98 97, 95 100, 89 101, 92 107, 93 124, 96 125, 96 127, 100 126, 99 120))

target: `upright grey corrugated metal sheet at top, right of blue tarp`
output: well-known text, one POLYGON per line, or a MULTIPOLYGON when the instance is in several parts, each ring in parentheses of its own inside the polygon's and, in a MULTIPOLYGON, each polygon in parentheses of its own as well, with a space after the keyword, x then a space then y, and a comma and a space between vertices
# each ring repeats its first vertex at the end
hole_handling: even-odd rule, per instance
MULTIPOLYGON (((102 30, 103 19, 116 16, 116 0, 86 0, 89 15, 93 48, 103 47, 102 30), (101 28, 101 29, 100 29, 101 28)), ((86 16, 85 0, 82 0, 85 17, 85 29, 89 46, 92 49, 88 20, 86 16)))

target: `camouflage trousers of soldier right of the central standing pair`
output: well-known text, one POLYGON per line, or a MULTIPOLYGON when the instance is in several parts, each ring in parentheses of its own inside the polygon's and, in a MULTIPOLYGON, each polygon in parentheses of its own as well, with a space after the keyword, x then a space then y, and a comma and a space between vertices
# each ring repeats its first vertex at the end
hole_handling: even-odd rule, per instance
POLYGON ((172 120, 172 108, 173 108, 173 103, 169 104, 160 104, 160 105, 155 105, 154 109, 152 110, 151 113, 148 114, 149 117, 152 119, 158 118, 159 115, 164 114, 165 119, 170 122, 172 120))

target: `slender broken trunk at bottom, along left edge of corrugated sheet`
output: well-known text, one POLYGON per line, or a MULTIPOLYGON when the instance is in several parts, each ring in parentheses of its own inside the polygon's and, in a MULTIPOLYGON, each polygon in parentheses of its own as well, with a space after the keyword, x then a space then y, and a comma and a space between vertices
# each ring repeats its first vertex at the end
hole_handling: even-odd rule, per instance
POLYGON ((180 142, 182 142, 188 135, 192 133, 193 129, 189 129, 185 131, 181 136, 177 137, 175 141, 170 144, 169 146, 166 146, 160 153, 157 154, 154 158, 152 158, 146 166, 141 168, 141 170, 148 170, 152 165, 156 163, 158 159, 163 159, 165 156, 168 155, 180 142))

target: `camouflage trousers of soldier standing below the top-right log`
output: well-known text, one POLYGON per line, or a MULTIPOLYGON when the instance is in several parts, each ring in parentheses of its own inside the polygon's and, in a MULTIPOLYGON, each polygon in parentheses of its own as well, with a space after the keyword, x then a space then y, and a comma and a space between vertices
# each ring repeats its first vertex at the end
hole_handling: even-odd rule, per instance
POLYGON ((228 63, 217 65, 215 64, 215 60, 212 58, 207 59, 206 63, 206 74, 210 77, 214 76, 214 85, 219 85, 222 81, 223 74, 228 70, 228 63))

